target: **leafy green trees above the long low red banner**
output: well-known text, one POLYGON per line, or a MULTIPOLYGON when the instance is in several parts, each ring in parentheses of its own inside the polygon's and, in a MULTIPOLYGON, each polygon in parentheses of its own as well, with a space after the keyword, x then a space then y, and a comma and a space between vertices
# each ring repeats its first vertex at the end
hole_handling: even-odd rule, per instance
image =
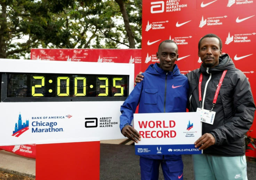
POLYGON ((1 0, 0 10, 0 58, 31 48, 141 48, 142 0, 1 0))

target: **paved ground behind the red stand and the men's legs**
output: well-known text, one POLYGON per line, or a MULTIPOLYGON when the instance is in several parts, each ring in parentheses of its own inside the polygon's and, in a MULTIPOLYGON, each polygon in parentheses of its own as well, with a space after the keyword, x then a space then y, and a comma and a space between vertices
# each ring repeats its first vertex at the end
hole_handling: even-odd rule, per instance
MULTIPOLYGON (((139 180, 139 156, 135 155, 133 145, 100 145, 100 180, 139 180)), ((191 155, 182 156, 184 180, 193 180, 191 155)), ((161 167, 160 167, 161 169, 161 167)), ((17 175, 35 177, 35 159, 0 151, 0 170, 17 175)), ((159 180, 163 180, 160 170, 159 180)), ((248 180, 256 180, 256 163, 247 162, 248 180)), ((50 177, 49 177, 50 179, 50 177)))

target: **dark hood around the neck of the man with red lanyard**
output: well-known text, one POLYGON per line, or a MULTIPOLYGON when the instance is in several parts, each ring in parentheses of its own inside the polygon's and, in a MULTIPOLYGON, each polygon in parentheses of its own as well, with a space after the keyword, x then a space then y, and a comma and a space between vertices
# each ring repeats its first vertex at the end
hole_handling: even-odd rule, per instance
MULTIPOLYGON (((218 73, 219 71, 229 70, 235 68, 234 62, 229 57, 229 54, 223 54, 219 57, 219 64, 213 68, 209 68, 208 72, 211 74, 218 73)), ((200 71, 202 73, 206 72, 207 68, 204 67, 203 63, 201 64, 200 71)))

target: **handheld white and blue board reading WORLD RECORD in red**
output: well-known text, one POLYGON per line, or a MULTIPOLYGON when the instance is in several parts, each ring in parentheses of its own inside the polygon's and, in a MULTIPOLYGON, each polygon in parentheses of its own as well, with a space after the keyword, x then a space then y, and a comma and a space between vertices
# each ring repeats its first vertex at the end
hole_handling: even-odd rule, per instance
POLYGON ((199 112, 134 114, 134 128, 142 136, 137 155, 202 153, 194 147, 202 134, 199 112))

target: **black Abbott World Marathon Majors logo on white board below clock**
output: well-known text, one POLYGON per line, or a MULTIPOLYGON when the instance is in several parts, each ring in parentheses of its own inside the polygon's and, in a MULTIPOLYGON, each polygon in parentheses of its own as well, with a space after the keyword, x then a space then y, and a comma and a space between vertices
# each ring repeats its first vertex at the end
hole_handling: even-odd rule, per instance
POLYGON ((112 117, 100 117, 100 118, 85 118, 85 128, 111 128, 118 126, 118 121, 112 119, 112 117))

